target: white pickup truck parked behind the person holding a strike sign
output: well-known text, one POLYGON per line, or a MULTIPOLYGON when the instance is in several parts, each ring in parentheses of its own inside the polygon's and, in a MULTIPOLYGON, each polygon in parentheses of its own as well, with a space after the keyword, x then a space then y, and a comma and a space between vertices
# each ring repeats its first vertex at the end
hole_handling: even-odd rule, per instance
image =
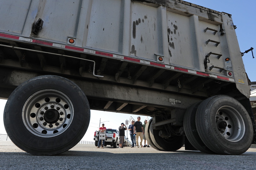
MULTIPOLYGON (((98 141, 99 141, 98 130, 94 132, 93 140, 95 140, 95 146, 98 146, 98 141)), ((119 144, 119 131, 117 129, 107 129, 104 146, 110 145, 110 146, 113 146, 113 148, 116 148, 118 144, 119 144)))

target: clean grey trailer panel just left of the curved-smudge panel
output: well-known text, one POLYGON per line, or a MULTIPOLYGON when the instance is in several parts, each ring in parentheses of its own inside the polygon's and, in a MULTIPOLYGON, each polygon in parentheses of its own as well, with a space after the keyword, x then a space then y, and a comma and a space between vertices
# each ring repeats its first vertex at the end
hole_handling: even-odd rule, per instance
POLYGON ((92 1, 86 46, 118 51, 120 8, 120 0, 92 1))

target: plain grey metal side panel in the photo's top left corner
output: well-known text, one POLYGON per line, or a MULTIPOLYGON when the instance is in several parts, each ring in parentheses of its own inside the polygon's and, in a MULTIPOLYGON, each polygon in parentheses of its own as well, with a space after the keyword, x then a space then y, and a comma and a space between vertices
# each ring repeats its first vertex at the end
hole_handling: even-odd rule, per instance
POLYGON ((30 1, 1 1, 0 30, 21 33, 26 22, 29 6, 30 1))

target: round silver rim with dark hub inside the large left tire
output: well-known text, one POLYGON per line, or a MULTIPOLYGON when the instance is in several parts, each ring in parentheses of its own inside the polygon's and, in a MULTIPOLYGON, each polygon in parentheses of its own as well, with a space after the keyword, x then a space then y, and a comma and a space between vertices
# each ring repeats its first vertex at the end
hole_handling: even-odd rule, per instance
POLYGON ((26 128, 38 137, 55 137, 68 129, 74 118, 71 100, 57 90, 42 90, 31 95, 22 109, 26 128))

